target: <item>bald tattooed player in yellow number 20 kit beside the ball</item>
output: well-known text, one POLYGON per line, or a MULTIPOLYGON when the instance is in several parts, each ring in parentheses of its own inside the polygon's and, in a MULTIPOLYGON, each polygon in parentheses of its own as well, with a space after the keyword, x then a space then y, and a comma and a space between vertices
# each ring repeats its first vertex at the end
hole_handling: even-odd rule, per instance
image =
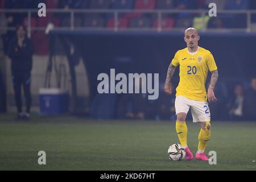
POLYGON ((205 155, 205 148, 210 139, 210 110, 207 102, 216 102, 214 86, 218 79, 217 66, 213 55, 207 49, 198 46, 200 36, 195 28, 188 28, 184 33, 184 40, 187 47, 175 53, 174 59, 167 71, 164 92, 172 94, 171 79, 177 66, 180 66, 180 82, 176 88, 175 111, 176 111, 176 132, 181 146, 185 148, 187 160, 193 159, 193 154, 187 145, 187 125, 185 119, 189 108, 193 122, 200 123, 199 143, 196 152, 196 159, 208 160, 205 155), (208 70, 212 73, 208 92, 205 90, 208 70))

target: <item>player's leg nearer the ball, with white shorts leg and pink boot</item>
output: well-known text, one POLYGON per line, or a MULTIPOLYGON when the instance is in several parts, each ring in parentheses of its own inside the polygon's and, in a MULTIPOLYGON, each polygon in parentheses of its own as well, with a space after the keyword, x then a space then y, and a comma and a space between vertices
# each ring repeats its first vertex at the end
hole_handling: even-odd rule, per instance
POLYGON ((178 138, 180 140, 180 144, 183 148, 185 148, 186 151, 186 158, 187 160, 193 159, 193 154, 189 150, 187 145, 187 134, 188 134, 188 128, 185 122, 185 119, 187 118, 187 113, 189 110, 189 102, 188 99, 183 96, 177 96, 175 99, 175 110, 176 110, 176 133, 178 135, 178 138))

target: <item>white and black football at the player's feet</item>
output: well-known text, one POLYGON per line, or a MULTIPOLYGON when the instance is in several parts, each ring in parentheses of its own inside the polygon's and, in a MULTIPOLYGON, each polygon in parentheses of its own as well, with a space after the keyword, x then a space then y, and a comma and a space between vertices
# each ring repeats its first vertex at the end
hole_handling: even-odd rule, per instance
POLYGON ((168 149, 168 158, 173 161, 179 161, 185 158, 185 149, 181 148, 181 144, 172 144, 168 149))

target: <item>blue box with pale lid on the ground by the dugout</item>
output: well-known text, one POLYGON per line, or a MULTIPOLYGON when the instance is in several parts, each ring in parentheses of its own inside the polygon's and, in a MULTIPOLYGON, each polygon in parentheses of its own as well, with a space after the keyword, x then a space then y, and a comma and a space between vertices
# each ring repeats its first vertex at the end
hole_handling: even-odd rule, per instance
POLYGON ((40 114, 52 115, 68 111, 68 92, 59 88, 41 88, 39 90, 40 114))

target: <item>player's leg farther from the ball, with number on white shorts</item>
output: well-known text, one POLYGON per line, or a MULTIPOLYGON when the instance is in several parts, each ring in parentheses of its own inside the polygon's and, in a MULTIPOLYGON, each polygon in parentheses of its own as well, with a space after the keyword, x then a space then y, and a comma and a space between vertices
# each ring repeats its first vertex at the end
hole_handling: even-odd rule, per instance
POLYGON ((210 111, 207 102, 195 101, 191 106, 191 113, 193 122, 199 122, 201 127, 196 159, 208 160, 204 152, 210 139, 210 111))

